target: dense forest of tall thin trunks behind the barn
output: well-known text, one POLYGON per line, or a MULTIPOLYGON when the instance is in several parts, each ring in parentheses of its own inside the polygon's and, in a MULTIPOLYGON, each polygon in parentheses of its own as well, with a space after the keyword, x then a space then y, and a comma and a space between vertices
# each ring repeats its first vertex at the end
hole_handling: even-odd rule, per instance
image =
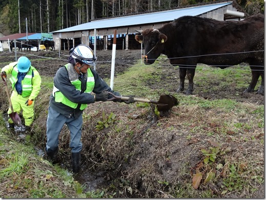
MULTIPOLYGON (((235 0, 234 0, 235 1, 235 0)), ((0 0, 0 33, 52 32, 95 19, 172 9, 212 0, 0 0), (28 30, 26 31, 26 27, 28 30)), ((218 1, 216 1, 218 2, 218 1)), ((249 14, 264 12, 263 0, 236 0, 249 14)))

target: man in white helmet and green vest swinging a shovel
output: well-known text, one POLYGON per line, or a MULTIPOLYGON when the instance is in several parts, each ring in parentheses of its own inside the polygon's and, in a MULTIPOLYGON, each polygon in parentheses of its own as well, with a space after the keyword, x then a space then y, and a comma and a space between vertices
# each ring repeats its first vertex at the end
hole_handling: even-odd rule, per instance
MULTIPOLYGON (((59 133, 66 124, 70 131, 69 146, 73 173, 77 173, 80 169, 82 113, 87 104, 107 101, 112 97, 104 91, 120 95, 119 92, 113 91, 96 71, 90 68, 95 65, 95 61, 96 57, 90 47, 78 45, 72 48, 68 64, 60 67, 54 76, 53 92, 50 95, 45 151, 50 161, 56 163, 59 133), (95 95, 92 95, 91 92, 95 95)), ((113 101, 122 102, 120 99, 113 101)), ((124 102, 130 104, 133 103, 133 99, 130 98, 124 102)))

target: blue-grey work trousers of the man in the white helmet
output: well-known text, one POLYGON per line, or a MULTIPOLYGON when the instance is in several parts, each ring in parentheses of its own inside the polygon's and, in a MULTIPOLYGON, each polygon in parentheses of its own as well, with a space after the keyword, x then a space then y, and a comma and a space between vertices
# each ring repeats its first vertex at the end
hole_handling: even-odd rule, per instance
POLYGON ((54 151, 58 147, 59 134, 66 124, 70 130, 70 148, 72 153, 77 153, 82 149, 81 138, 81 127, 83 124, 82 114, 76 119, 75 117, 66 117, 59 112, 56 112, 50 106, 48 108, 48 117, 46 122, 46 152, 54 151))

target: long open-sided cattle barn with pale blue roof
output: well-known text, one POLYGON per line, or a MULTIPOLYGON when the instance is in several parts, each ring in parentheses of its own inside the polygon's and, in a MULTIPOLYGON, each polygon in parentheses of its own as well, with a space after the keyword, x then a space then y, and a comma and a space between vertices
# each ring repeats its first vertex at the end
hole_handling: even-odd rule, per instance
POLYGON ((116 49, 140 49, 140 44, 135 40, 136 30, 159 28, 185 15, 225 21, 241 20, 247 13, 235 1, 219 1, 178 7, 171 10, 101 18, 85 24, 53 31, 55 50, 70 50, 79 44, 89 45, 94 49, 94 38, 96 38, 97 50, 112 49, 114 30, 116 30, 116 49))

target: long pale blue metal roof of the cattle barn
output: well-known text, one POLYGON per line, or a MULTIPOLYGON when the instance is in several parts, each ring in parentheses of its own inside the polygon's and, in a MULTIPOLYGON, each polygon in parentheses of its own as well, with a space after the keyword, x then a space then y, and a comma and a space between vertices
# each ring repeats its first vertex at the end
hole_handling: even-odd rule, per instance
POLYGON ((92 22, 88 22, 85 24, 80 24, 77 26, 65 28, 62 30, 53 31, 52 33, 168 22, 168 21, 173 21, 174 19, 179 18, 181 16, 185 16, 185 15, 197 16, 197 15, 221 8, 223 6, 227 6, 229 4, 232 4, 232 2, 195 6, 195 7, 189 7, 189 8, 145 13, 145 14, 138 14, 138 15, 121 16, 121 17, 116 17, 116 18, 101 19, 101 20, 92 21, 92 22))

